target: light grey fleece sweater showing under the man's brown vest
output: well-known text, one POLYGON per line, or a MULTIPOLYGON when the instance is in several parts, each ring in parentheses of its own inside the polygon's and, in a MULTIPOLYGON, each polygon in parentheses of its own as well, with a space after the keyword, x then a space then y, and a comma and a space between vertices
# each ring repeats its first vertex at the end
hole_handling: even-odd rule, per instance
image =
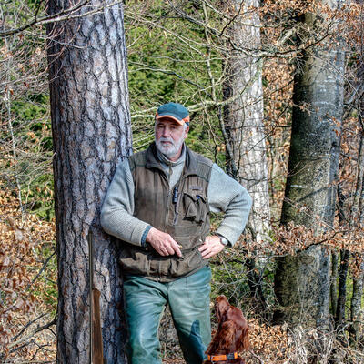
MULTIPOLYGON (((186 152, 172 162, 158 153, 172 189, 182 173, 186 152)), ((101 208, 101 226, 106 233, 135 245, 143 245, 150 226, 134 217, 134 181, 127 159, 116 168, 101 208)), ((208 184, 207 198, 212 212, 224 211, 225 216, 216 233, 227 238, 233 246, 244 230, 252 204, 248 191, 214 163, 208 184)))

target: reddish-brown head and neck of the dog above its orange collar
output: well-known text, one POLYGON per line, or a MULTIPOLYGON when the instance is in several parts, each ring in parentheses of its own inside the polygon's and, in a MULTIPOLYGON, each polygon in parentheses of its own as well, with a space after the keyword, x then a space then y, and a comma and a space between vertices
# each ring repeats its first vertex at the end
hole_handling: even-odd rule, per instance
POLYGON ((249 349, 248 322, 239 308, 231 306, 225 296, 216 299, 218 328, 208 352, 234 352, 249 349))

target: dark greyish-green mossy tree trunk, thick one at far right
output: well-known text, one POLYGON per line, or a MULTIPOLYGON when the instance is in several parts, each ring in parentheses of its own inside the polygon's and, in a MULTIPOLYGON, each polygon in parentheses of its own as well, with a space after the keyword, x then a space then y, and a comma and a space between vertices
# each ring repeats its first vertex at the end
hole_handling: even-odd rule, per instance
MULTIPOLYGON (((301 19, 312 32, 318 21, 312 14, 301 19)), ((317 233, 333 224, 343 71, 344 53, 339 46, 317 46, 298 59, 283 224, 293 221, 317 233)), ((280 308, 276 321, 326 326, 329 267, 329 254, 321 246, 277 259, 275 292, 280 308)))

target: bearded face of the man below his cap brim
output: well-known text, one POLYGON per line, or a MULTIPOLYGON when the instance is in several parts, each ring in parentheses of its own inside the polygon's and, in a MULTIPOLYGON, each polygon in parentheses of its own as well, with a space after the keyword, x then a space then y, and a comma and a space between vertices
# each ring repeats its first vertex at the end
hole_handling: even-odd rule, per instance
POLYGON ((158 150, 170 160, 176 161, 181 155, 188 130, 189 126, 181 126, 167 117, 157 120, 155 136, 158 150))

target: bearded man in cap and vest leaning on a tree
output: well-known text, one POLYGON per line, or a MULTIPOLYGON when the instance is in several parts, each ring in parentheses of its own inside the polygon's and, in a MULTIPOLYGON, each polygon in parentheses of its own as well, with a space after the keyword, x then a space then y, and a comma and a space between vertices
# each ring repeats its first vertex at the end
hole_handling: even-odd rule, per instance
POLYGON ((159 364, 157 330, 166 305, 187 364, 200 364, 211 338, 208 258, 232 246, 251 198, 244 187, 185 139, 187 108, 157 110, 155 143, 120 163, 101 211, 107 233, 122 240, 132 364, 159 364), (209 235, 209 211, 225 211, 209 235))

